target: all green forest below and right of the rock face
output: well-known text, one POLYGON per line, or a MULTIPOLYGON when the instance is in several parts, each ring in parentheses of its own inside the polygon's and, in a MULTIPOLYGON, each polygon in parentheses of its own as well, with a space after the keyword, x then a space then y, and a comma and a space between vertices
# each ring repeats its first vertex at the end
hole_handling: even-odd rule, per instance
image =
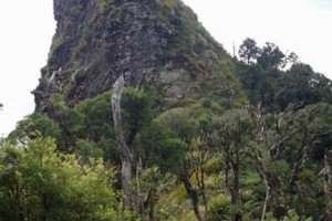
MULTIPOLYGON (((186 44, 178 34, 174 44, 186 44)), ((122 204, 112 91, 74 107, 53 94, 61 117, 33 113, 1 143, 0 220, 331 219, 331 81, 272 43, 245 40, 240 61, 193 50, 188 65, 205 75, 187 96, 162 106, 158 88, 124 90, 132 211, 122 204)))

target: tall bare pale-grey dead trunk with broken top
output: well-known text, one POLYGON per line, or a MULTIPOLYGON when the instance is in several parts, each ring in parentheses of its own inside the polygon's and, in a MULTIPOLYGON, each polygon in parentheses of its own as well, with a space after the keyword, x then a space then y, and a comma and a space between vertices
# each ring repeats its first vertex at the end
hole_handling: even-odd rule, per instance
POLYGON ((121 97, 124 87, 124 77, 120 76, 117 81, 113 85, 113 94, 112 94, 112 110, 113 110, 113 120, 117 145, 121 151, 121 161, 122 161, 122 189, 125 194, 124 203, 126 208, 133 209, 133 193, 132 193, 132 152, 128 148, 124 131, 122 128, 122 119, 121 119, 121 97))

